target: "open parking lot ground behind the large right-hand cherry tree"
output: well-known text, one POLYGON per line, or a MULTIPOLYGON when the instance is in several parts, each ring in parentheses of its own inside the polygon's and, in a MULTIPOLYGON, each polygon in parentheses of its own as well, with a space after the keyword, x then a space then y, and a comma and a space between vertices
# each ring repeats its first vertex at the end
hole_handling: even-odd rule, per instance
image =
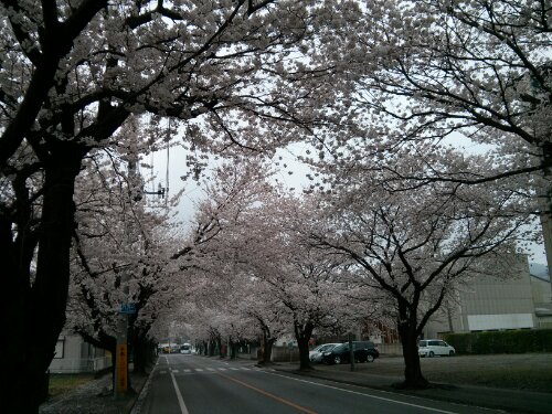
MULTIPOLYGON (((422 358, 422 372, 432 382, 497 386, 552 393, 552 353, 456 355, 422 358)), ((382 355, 358 363, 359 374, 402 376, 402 357, 382 355)), ((349 364, 317 365, 320 370, 349 370, 349 364)))

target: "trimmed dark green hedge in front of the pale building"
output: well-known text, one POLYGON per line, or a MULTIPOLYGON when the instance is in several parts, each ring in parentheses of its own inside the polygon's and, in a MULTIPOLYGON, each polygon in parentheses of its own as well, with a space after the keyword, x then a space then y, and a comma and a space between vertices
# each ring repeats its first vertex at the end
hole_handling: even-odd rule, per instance
POLYGON ((552 352, 552 329, 444 333, 459 354, 552 352))

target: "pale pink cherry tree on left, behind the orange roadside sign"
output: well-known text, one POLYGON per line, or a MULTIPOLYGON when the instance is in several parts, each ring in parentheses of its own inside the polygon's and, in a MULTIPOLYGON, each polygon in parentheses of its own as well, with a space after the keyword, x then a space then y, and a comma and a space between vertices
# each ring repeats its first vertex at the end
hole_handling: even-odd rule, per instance
POLYGON ((118 308, 132 302, 137 314, 128 318, 129 338, 135 371, 144 371, 148 331, 168 291, 169 246, 176 237, 170 237, 167 209, 159 208, 163 204, 145 209, 144 200, 136 201, 127 161, 121 164, 113 157, 109 161, 103 162, 99 155, 91 157, 77 181, 77 229, 65 326, 109 350, 115 359, 118 308))

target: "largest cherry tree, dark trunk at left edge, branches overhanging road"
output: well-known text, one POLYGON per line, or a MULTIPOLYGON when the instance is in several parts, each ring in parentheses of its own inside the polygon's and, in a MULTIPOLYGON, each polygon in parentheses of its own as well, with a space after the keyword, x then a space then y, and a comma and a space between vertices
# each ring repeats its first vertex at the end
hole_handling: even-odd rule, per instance
POLYGON ((0 350, 23 361, 4 370, 2 401, 33 413, 64 325, 86 155, 146 112, 181 123, 194 149, 273 150, 320 121, 331 87, 308 59, 310 2, 6 0, 0 10, 0 246, 11 258, 0 314, 12 339, 0 350))

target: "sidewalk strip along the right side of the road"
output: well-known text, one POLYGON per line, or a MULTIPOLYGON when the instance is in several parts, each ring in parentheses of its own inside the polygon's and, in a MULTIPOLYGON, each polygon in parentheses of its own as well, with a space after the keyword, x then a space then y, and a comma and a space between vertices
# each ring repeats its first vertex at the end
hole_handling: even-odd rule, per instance
POLYGON ((392 386, 392 384, 401 382, 403 380, 402 378, 371 374, 367 372, 367 368, 369 367, 370 364, 360 364, 355 367, 355 371, 351 372, 344 369, 344 365, 316 365, 314 370, 302 372, 298 371, 297 363, 284 362, 272 365, 270 368, 276 371, 301 376, 365 386, 404 395, 415 395, 424 399, 503 410, 509 413, 552 413, 552 394, 550 393, 445 383, 435 384, 435 388, 427 390, 404 391, 392 386))

